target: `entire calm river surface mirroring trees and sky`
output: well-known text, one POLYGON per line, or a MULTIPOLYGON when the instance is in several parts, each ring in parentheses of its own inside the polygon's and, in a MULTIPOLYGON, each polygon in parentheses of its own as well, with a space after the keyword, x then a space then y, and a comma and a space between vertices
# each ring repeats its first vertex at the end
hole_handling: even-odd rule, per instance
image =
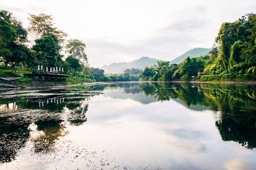
POLYGON ((0 169, 256 169, 256 86, 0 91, 0 169))

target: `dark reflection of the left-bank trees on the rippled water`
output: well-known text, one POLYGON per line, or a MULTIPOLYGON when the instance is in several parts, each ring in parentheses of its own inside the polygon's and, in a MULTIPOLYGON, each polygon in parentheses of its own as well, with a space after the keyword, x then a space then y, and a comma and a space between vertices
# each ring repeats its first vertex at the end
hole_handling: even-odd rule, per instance
POLYGON ((86 122, 88 100, 91 96, 99 94, 95 89, 103 90, 104 87, 96 85, 46 89, 42 90, 42 96, 1 96, 0 162, 12 161, 29 139, 36 153, 53 150, 56 141, 67 134, 67 124, 63 119, 64 108, 70 110, 67 117, 71 125, 83 124, 86 122), (47 93, 49 96, 45 96, 47 93), (55 94, 52 95, 53 93, 55 94), (31 126, 35 129, 31 129, 31 126))

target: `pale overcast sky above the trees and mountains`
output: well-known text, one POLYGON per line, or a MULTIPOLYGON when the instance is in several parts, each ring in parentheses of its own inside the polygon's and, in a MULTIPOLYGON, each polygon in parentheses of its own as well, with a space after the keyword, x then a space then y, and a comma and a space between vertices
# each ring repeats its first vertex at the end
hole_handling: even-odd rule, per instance
POLYGON ((140 57, 172 60, 192 48, 211 48, 223 22, 256 12, 255 0, 0 0, 28 27, 28 13, 54 17, 68 39, 86 44, 90 66, 140 57))

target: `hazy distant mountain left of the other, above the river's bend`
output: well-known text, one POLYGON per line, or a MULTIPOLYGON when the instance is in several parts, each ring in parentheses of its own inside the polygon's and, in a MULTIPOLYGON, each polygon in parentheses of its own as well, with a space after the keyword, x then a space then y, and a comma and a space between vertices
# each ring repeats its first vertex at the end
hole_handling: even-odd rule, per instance
POLYGON ((133 60, 132 62, 119 62, 113 63, 109 66, 104 65, 100 69, 103 69, 106 74, 109 73, 123 73, 125 69, 143 69, 146 66, 152 66, 154 64, 157 65, 157 59, 150 58, 150 57, 141 57, 140 59, 133 60))

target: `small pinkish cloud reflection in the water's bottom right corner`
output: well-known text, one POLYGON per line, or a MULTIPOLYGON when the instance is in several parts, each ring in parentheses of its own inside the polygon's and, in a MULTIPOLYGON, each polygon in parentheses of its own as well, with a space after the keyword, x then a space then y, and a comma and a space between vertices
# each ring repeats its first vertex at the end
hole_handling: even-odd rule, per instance
POLYGON ((246 162, 241 158, 228 160, 224 163, 224 167, 228 170, 250 169, 250 167, 246 166, 246 162))

